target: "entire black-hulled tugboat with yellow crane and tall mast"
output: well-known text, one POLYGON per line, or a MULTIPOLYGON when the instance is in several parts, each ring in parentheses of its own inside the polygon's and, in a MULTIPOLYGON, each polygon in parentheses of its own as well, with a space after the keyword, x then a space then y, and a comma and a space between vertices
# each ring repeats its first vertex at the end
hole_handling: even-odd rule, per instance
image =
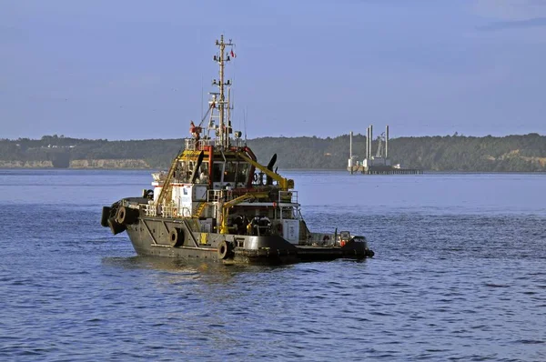
POLYGON ((373 256, 364 236, 311 232, 294 181, 273 170, 277 155, 259 164, 232 129, 225 66, 235 54, 223 35, 216 45, 218 91, 210 93, 207 114, 198 126, 191 122, 168 172, 152 174, 153 189, 104 206, 101 225, 114 235, 126 231, 142 256, 260 265, 373 256))

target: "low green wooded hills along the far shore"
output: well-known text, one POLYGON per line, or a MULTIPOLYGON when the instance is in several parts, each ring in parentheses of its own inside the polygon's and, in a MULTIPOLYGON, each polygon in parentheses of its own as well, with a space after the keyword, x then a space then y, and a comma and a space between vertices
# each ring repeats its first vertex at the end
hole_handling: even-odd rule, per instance
MULTIPOLYGON (((377 150, 373 141, 373 152, 377 150)), ((52 161, 67 167, 71 160, 142 159, 151 168, 167 168, 184 139, 108 141, 66 136, 40 139, 0 139, 0 160, 52 161)), ((263 137, 248 140, 258 161, 278 155, 280 169, 345 169, 349 135, 319 138, 263 137)), ((353 136, 353 156, 364 158, 366 136, 353 136)), ((389 140, 392 164, 426 171, 533 172, 546 171, 546 136, 419 136, 389 140)))

